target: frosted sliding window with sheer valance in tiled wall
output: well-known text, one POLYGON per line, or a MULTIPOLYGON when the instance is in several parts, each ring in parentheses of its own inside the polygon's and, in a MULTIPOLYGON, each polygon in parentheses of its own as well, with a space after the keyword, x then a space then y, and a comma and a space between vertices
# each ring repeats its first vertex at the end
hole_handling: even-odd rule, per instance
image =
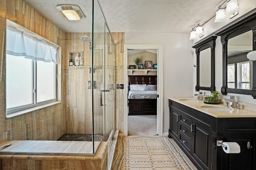
POLYGON ((58 101, 57 48, 39 35, 7 21, 7 115, 58 101))

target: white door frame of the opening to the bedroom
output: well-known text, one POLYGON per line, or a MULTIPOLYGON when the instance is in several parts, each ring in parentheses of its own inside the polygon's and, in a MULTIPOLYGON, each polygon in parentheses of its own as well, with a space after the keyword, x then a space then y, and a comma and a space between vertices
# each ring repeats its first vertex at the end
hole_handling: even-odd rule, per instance
POLYGON ((157 125, 156 132, 163 135, 163 45, 162 44, 124 44, 124 136, 128 136, 128 49, 157 49, 157 125))

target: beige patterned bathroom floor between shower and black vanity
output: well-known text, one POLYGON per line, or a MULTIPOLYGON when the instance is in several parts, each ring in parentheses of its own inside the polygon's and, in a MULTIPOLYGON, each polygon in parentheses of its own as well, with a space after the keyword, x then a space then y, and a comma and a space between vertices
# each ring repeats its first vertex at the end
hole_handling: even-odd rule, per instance
POLYGON ((112 170, 197 170, 168 137, 118 137, 112 170))

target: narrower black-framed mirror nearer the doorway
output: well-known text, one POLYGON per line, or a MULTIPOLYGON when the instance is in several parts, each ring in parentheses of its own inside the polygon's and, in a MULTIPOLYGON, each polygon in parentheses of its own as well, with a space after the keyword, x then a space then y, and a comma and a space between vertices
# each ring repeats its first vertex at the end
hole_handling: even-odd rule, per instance
POLYGON ((215 41, 217 36, 212 36, 193 48, 196 49, 196 91, 215 88, 215 41))

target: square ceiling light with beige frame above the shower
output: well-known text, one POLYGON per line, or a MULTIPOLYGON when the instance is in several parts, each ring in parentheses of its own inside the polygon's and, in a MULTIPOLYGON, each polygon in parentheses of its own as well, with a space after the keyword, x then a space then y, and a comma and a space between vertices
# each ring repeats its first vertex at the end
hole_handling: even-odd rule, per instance
POLYGON ((68 20, 76 21, 85 18, 82 10, 77 5, 62 4, 57 5, 56 8, 68 20))

